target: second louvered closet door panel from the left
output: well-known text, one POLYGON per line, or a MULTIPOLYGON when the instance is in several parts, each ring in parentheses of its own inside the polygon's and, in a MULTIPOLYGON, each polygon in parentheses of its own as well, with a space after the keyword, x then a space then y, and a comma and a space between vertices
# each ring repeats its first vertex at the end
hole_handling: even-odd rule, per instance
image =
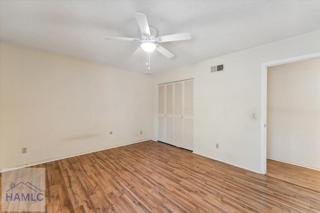
POLYGON ((165 143, 173 145, 173 84, 165 85, 165 143))

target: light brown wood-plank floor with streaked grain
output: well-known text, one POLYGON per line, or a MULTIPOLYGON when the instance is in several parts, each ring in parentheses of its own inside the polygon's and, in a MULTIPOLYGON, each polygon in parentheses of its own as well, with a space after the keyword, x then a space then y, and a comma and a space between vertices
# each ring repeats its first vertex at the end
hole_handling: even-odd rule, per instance
POLYGON ((320 212, 320 172, 268 160, 259 175, 146 141, 46 168, 46 212, 320 212))

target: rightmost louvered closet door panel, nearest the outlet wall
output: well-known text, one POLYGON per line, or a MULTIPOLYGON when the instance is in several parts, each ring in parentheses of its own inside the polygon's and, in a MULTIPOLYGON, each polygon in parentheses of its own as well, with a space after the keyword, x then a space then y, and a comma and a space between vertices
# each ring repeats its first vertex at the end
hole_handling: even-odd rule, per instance
POLYGON ((182 148, 193 151, 193 80, 183 82, 182 148))

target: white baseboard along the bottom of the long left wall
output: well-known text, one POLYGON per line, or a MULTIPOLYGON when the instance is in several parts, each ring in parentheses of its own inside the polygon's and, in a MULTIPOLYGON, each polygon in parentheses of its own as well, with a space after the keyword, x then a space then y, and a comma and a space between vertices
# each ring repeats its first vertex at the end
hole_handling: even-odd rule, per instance
POLYGON ((151 139, 130 142, 130 143, 121 144, 121 145, 118 145, 118 146, 104 147, 102 149, 90 150, 90 151, 87 151, 87 152, 80 152, 80 153, 67 155, 67 156, 62 156, 62 157, 57 157, 57 158, 50 158, 50 159, 46 159, 46 160, 43 160, 43 161, 32 162, 32 163, 18 165, 18 166, 14 166, 14 167, 0 168, 0 173, 11 171, 11 170, 16 170, 16 169, 20 169, 20 168, 24 168, 24 167, 30 167, 30 166, 34 166, 34 165, 44 164, 44 163, 48 163, 48 162, 52 162, 52 161, 62 160, 62 159, 66 159, 66 158, 71 158, 71 157, 75 157, 75 156, 85 155, 85 154, 89 154, 89 153, 92 153, 92 152, 98 152, 98 151, 112 149, 112 148, 116 148, 116 147, 123 147, 123 146, 126 146, 126 145, 136 144, 136 143, 140 143, 140 142, 143 142, 143 141, 149 141, 149 140, 151 140, 151 139))

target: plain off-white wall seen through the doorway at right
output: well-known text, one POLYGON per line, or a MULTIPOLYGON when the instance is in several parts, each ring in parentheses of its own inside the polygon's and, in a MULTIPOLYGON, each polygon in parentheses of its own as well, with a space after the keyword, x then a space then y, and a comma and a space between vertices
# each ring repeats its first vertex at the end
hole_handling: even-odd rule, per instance
POLYGON ((267 69, 267 157, 320 170, 320 59, 267 69))

